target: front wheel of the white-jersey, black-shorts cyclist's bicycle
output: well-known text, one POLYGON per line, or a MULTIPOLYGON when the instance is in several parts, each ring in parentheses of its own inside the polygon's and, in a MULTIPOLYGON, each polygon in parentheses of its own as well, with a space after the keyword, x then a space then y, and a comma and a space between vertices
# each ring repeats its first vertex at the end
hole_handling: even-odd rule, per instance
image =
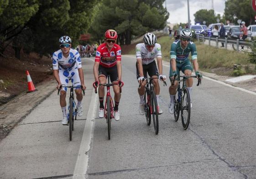
POLYGON ((157 97, 154 91, 151 92, 150 94, 151 97, 151 112, 152 112, 152 117, 153 117, 153 124, 154 124, 154 129, 155 129, 155 134, 158 134, 158 110, 157 110, 157 97))

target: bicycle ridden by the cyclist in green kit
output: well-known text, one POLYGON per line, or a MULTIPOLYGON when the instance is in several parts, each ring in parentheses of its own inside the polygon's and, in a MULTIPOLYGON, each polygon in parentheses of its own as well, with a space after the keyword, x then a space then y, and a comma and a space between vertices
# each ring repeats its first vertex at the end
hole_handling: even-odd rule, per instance
MULTIPOLYGON (((178 78, 178 88, 175 94, 175 102, 174 102, 174 120, 177 122, 179 118, 179 113, 181 112, 181 121, 184 130, 188 128, 189 122, 190 122, 190 95, 188 92, 188 88, 186 87, 186 80, 188 78, 196 78, 197 76, 174 76, 174 80, 172 81, 172 85, 174 84, 174 81, 176 78, 178 78), (180 78, 183 78, 180 80, 180 78), (180 82, 183 82, 182 87, 180 85, 180 82), (188 114, 185 115, 185 112, 188 114)), ((201 84, 201 78, 198 79, 197 86, 201 84)))

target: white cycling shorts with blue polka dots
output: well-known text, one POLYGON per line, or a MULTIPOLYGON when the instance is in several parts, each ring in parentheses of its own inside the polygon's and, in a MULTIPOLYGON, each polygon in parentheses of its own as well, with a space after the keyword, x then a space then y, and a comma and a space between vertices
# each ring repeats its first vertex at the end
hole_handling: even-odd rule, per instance
MULTIPOLYGON (((81 81, 80 81, 80 77, 79 77, 77 68, 75 68, 69 72, 64 71, 64 70, 59 70, 59 77, 60 77, 60 82, 63 86, 68 86, 68 82, 69 82, 69 80, 71 80, 73 86, 76 87, 76 89, 80 89, 81 81)), ((63 87, 61 90, 67 91, 67 88, 63 87)))

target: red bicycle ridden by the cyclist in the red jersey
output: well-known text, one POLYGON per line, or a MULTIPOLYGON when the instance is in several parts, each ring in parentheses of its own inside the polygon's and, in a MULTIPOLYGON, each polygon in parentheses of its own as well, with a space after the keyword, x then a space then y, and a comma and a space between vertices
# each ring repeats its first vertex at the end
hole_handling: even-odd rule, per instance
MULTIPOLYGON (((104 118, 106 119, 106 122, 108 124, 108 138, 110 140, 111 135, 111 120, 114 118, 114 103, 110 94, 110 87, 114 85, 120 85, 120 84, 112 84, 110 83, 110 75, 107 76, 108 83, 105 84, 99 84, 99 86, 107 87, 107 94, 106 94, 106 100, 105 100, 105 106, 104 106, 104 118)), ((95 86, 98 86, 98 83, 95 82, 95 86)), ((120 92, 122 92, 122 88, 120 87, 120 92)), ((97 88, 95 88, 95 93, 97 93, 97 88)))

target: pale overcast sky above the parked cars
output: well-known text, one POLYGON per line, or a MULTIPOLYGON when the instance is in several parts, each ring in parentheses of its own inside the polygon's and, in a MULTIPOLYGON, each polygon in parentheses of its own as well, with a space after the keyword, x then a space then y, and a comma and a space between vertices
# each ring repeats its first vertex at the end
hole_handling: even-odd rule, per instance
MULTIPOLYGON (((166 0, 170 23, 188 22, 188 0, 166 0)), ((165 7, 165 2, 163 4, 165 7)), ((214 0, 215 14, 224 14, 225 0, 214 0)), ((190 20, 194 23, 194 14, 200 9, 212 9, 212 0, 189 0, 190 20)))

